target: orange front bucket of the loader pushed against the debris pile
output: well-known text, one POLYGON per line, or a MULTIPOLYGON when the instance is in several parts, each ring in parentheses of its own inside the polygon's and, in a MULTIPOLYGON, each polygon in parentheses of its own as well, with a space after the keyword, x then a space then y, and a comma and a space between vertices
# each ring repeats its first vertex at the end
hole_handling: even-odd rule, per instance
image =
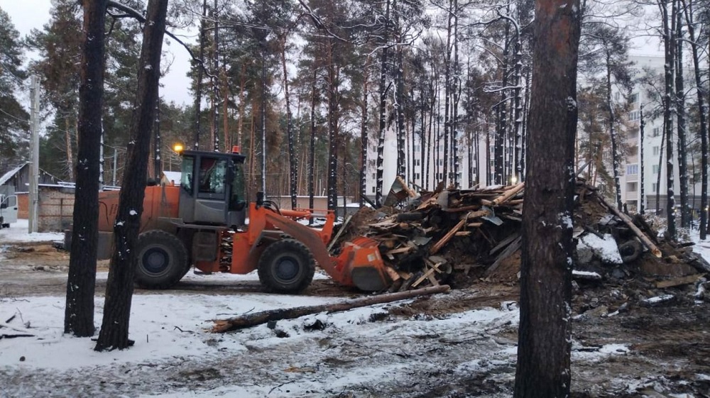
POLYGON ((385 290, 391 283, 377 246, 376 241, 361 236, 346 243, 343 249, 352 259, 350 270, 353 284, 366 292, 385 290))

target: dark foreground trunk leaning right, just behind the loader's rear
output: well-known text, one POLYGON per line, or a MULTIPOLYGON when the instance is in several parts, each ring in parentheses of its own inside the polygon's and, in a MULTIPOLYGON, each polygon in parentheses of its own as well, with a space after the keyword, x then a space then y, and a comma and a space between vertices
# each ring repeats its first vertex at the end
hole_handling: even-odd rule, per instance
POLYGON ((121 350, 131 345, 129 319, 133 274, 138 260, 136 243, 146 193, 146 169, 155 102, 158 100, 160 54, 167 13, 168 0, 148 1, 143 46, 138 61, 141 67, 138 68, 138 89, 131 118, 131 139, 126 153, 126 172, 121 182, 119 209, 114 223, 114 253, 111 255, 106 286, 104 319, 94 348, 97 351, 107 348, 121 350))

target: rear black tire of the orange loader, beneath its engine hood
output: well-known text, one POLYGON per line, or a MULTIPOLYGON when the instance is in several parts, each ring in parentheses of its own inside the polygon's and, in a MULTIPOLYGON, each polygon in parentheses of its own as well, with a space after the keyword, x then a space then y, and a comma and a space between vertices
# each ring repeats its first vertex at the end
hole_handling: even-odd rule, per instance
POLYGON ((187 249, 172 233, 155 230, 141 233, 133 281, 144 289, 168 289, 185 276, 187 249))

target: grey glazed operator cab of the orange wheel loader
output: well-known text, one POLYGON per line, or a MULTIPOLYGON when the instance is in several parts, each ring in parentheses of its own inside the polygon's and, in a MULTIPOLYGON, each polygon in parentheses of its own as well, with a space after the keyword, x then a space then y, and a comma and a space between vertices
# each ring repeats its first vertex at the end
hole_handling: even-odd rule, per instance
POLYGON ((239 153, 182 152, 180 219, 212 226, 244 225, 244 159, 239 153))

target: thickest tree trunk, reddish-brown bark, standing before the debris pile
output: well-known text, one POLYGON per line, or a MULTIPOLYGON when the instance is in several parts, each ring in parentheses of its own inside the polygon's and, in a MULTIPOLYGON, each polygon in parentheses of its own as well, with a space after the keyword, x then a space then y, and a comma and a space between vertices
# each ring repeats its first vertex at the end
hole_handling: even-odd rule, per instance
POLYGON ((569 397, 579 26, 579 1, 537 0, 515 398, 569 397))

